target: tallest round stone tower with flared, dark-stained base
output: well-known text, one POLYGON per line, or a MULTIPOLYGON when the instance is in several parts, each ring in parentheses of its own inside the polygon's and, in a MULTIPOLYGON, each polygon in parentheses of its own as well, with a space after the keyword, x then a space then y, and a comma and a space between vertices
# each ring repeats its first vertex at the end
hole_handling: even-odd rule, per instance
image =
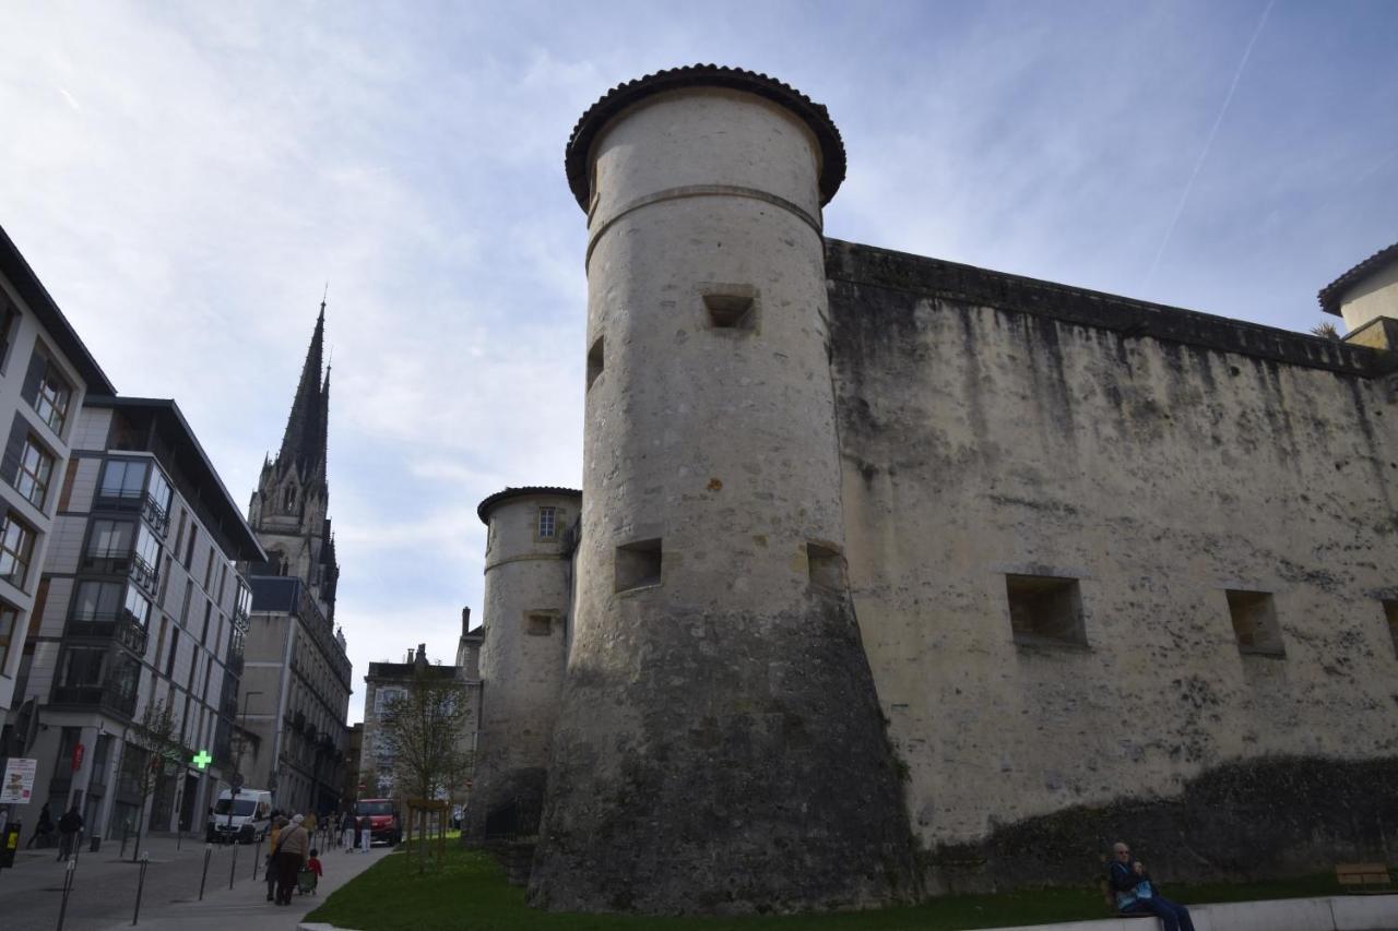
POLYGON ((568 145, 587 212, 577 609, 531 900, 790 911, 911 897, 844 575, 825 108, 749 71, 624 84, 568 145))

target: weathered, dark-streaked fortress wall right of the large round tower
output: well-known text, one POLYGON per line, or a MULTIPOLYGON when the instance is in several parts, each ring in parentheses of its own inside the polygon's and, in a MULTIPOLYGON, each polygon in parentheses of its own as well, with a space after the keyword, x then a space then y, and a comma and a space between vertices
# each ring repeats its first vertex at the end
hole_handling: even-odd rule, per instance
POLYGON ((1082 879, 1107 832, 1176 878, 1398 853, 1385 358, 849 243, 828 274, 850 582, 937 888, 1082 879), (1016 644, 1007 575, 1078 579, 1086 643, 1016 644), (1226 590, 1272 594, 1285 657, 1226 590))

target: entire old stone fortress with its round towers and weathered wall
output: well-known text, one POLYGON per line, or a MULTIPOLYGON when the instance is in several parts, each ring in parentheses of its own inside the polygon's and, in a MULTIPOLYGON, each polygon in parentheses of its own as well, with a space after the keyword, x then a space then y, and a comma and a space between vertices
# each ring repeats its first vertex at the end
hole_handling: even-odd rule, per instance
POLYGON ((480 509, 471 833, 647 913, 1398 854, 1398 249, 1327 340, 832 239, 844 159, 713 66, 575 127, 583 488, 480 509))

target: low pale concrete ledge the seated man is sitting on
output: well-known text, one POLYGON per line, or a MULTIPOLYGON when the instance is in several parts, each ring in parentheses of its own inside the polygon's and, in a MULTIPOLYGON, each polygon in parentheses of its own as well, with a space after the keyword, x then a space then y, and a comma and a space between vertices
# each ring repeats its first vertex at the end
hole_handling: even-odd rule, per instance
MULTIPOLYGON (((1383 931, 1398 928, 1398 895, 1190 906, 1195 931, 1383 931)), ((1155 918, 1026 924, 987 931, 1156 931, 1155 918)))

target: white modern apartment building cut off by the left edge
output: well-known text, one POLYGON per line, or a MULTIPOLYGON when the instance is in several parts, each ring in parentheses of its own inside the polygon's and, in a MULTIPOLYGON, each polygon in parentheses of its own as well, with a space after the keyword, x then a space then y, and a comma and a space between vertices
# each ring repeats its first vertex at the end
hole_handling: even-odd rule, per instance
POLYGON ((0 756, 38 726, 15 684, 77 411, 112 383, 0 228, 0 756))

